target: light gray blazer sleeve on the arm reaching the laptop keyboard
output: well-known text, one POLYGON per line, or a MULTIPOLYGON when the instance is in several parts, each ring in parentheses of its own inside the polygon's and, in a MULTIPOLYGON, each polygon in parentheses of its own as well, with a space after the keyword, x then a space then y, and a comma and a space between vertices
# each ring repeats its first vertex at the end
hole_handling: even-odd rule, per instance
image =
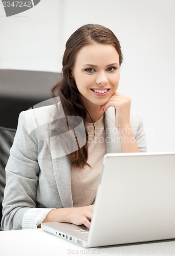
MULTIPOLYGON (((34 134, 32 136, 28 134, 25 112, 21 112, 6 165, 2 218, 4 230, 21 229, 25 212, 36 207, 36 189, 40 170, 37 149, 37 139, 34 134)), ((43 213, 43 209, 41 211, 43 213)), ((48 209, 46 214, 47 212, 48 209)), ((40 215, 39 208, 38 215, 40 215)))

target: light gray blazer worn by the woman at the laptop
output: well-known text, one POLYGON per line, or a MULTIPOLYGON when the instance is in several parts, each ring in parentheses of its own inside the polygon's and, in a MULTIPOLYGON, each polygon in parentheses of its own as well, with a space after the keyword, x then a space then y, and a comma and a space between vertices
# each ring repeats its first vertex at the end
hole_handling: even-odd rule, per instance
MULTIPOLYGON (((52 145, 51 150, 48 142, 48 124, 54 118, 53 112, 52 105, 24 111, 19 115, 6 166, 4 230, 21 229, 23 216, 30 208, 73 207, 70 162, 67 156, 55 157, 54 152, 59 151, 59 145, 52 145)), ((114 120, 114 108, 109 108, 104 118, 106 153, 121 152, 114 120)), ((146 138, 141 116, 132 113, 130 123, 139 151, 145 152, 146 138)))

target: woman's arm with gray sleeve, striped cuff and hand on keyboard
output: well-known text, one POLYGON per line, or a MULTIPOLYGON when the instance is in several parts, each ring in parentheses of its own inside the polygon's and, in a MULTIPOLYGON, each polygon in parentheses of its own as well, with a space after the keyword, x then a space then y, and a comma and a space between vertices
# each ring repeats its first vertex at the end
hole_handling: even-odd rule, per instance
POLYGON ((38 141, 35 133, 32 136, 28 134, 25 112, 22 112, 19 115, 14 143, 6 166, 3 229, 37 228, 43 221, 70 222, 90 227, 93 205, 58 209, 37 207, 36 195, 40 173, 37 155, 38 141))

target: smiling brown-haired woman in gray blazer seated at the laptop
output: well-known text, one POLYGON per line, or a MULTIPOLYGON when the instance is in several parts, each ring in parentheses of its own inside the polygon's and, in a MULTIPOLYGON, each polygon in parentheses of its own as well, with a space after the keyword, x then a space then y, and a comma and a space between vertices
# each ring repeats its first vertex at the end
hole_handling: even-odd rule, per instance
POLYGON ((52 89, 60 97, 57 108, 20 113, 6 166, 4 229, 37 228, 41 222, 90 227, 104 154, 146 151, 141 117, 130 113, 130 98, 116 92, 121 63, 110 29, 84 25, 68 39, 62 80, 52 89), (81 124, 76 116, 85 126, 80 140, 70 128, 81 124), (74 148, 72 138, 80 142, 83 136, 85 142, 74 148))

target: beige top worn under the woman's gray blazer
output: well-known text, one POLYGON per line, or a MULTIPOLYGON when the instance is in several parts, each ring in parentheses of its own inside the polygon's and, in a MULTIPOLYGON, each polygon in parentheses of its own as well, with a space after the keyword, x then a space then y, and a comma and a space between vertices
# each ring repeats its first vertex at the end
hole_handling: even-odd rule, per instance
POLYGON ((104 116, 94 123, 85 123, 88 131, 88 163, 84 169, 71 168, 74 207, 91 205, 96 197, 103 156, 106 154, 104 116), (95 126, 95 137, 94 137, 95 126), (94 138, 93 138, 94 137, 94 138))

